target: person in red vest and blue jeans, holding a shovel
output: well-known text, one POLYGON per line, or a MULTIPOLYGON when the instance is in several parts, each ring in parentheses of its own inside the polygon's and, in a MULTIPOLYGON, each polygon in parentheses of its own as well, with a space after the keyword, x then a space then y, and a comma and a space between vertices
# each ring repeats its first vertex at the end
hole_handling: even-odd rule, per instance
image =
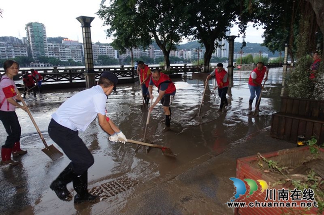
MULTIPOLYGON (((256 110, 259 110, 258 100, 260 97, 261 89, 262 89, 262 80, 265 76, 264 81, 268 80, 268 68, 264 66, 262 62, 257 63, 257 68, 255 68, 250 75, 249 78, 249 88, 250 88, 250 100, 249 100, 249 111, 252 111, 252 103, 253 99, 257 95, 257 101, 255 103, 256 110)), ((261 100, 260 100, 261 101, 261 100)))

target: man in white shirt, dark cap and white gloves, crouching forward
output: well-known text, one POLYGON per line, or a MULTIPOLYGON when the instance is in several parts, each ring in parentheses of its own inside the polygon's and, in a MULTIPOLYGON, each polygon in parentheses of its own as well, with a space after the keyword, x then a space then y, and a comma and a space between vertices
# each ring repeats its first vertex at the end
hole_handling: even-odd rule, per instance
POLYGON ((124 143, 127 141, 123 132, 106 116, 106 99, 116 89, 117 83, 118 78, 113 73, 103 72, 96 86, 76 93, 52 114, 48 133, 71 160, 50 185, 56 195, 64 201, 72 199, 66 188, 70 182, 77 193, 74 203, 93 202, 98 198, 88 192, 88 169, 94 164, 94 157, 78 136, 78 131, 85 131, 98 116, 99 125, 110 135, 110 141, 117 142, 118 138, 123 139, 124 143))

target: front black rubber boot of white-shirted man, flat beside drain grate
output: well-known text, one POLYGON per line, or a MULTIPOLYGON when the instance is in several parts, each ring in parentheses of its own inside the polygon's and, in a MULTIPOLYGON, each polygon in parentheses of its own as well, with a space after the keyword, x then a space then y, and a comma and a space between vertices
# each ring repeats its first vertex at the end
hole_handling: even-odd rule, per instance
POLYGON ((74 203, 79 204, 85 201, 95 202, 99 196, 91 195, 88 192, 88 171, 73 179, 73 187, 76 192, 74 203))

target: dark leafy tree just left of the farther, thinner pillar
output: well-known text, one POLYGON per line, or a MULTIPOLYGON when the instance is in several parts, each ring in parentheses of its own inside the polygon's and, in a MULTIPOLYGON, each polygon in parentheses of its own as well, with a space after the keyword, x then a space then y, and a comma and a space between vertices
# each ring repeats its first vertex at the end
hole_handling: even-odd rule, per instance
POLYGON ((216 40, 226 37, 226 31, 239 15, 240 1, 198 0, 187 2, 185 11, 188 16, 186 25, 193 39, 203 43, 204 72, 209 72, 210 60, 215 47, 220 47, 216 40))

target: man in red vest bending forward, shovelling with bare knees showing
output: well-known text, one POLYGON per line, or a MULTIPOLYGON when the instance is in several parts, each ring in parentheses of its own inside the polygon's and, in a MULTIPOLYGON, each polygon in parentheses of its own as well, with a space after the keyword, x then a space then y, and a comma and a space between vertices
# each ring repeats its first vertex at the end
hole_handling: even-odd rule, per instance
POLYGON ((150 106, 149 111, 152 111, 154 106, 161 101, 163 105, 163 110, 166 115, 166 126, 164 131, 168 131, 170 129, 171 122, 171 108, 170 105, 176 94, 176 86, 171 81, 168 75, 161 73, 159 70, 155 69, 152 72, 152 76, 150 79, 150 83, 148 86, 148 92, 150 94, 150 98, 153 99, 152 91, 153 85, 157 87, 158 96, 155 99, 154 103, 150 106))

